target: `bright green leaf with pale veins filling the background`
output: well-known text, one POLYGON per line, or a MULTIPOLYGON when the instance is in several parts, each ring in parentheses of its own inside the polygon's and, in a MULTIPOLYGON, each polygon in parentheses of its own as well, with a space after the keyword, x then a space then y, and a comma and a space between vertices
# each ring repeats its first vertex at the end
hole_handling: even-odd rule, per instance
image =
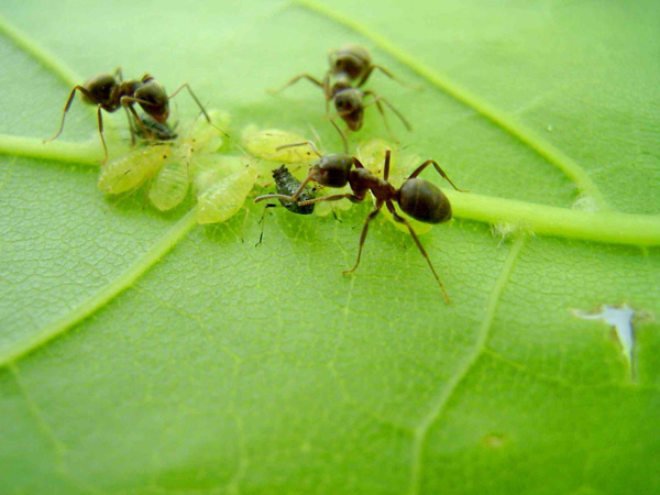
MULTIPOLYGON (((660 491, 657 2, 24 1, 4 15, 0 492, 660 491), (261 205, 200 227, 191 201, 105 197, 79 100, 42 144, 70 88, 121 65, 188 81, 237 135, 311 124, 339 150, 318 89, 265 90, 320 77, 346 42, 424 86, 369 82, 413 123, 392 119, 402 146, 471 190, 421 237, 450 305, 384 219, 342 275, 369 201, 341 221, 277 208, 254 246, 261 205), (624 304, 631 358, 578 316, 624 304)), ((127 138, 120 112, 107 123, 110 145, 127 138)), ((373 136, 369 109, 352 144, 373 136)))

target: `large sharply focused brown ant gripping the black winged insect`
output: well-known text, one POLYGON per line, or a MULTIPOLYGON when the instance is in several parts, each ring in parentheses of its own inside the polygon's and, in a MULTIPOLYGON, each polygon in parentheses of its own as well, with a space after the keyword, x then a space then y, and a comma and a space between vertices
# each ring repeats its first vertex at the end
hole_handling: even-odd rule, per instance
MULTIPOLYGON (((366 239, 366 233, 369 231, 370 222, 376 218, 383 205, 387 207, 392 217, 395 221, 399 223, 404 223, 413 240, 417 244, 417 248, 421 252, 421 255, 426 258, 436 277, 436 280, 440 285, 444 298, 449 302, 449 295, 447 290, 444 290, 444 286, 442 282, 440 282, 440 277, 436 273, 433 265, 431 264, 431 260, 429 258, 426 250, 419 242, 413 226, 406 220, 404 217, 399 216, 394 207, 394 202, 397 202, 399 208, 413 217, 414 219, 425 222, 425 223, 442 223, 451 219, 451 205, 449 199, 444 194, 433 184, 418 178, 417 176, 424 172, 426 167, 429 165, 433 165, 436 170, 446 178, 452 187, 461 193, 465 193, 463 189, 459 189, 454 183, 447 176, 444 170, 438 165, 438 163, 433 160, 427 160, 420 166, 418 166, 406 179, 403 186, 396 189, 392 184, 387 182, 389 177, 389 156, 391 152, 387 150, 385 152, 385 166, 383 170, 383 178, 376 177, 370 170, 367 170, 364 165, 354 156, 350 156, 348 154, 337 154, 337 155, 327 155, 322 156, 314 143, 311 141, 306 143, 295 143, 288 144, 288 146, 300 146, 300 145, 309 145, 311 150, 320 157, 320 160, 312 165, 307 177, 300 183, 298 189, 290 196, 287 195, 264 195, 254 199, 254 202, 263 201, 266 199, 279 199, 290 202, 298 201, 300 194, 302 193, 305 186, 310 180, 319 183, 322 186, 328 187, 343 187, 346 184, 350 185, 352 193, 343 194, 343 195, 333 195, 326 196, 321 198, 298 201, 298 206, 314 205, 320 201, 337 201, 343 198, 349 199, 352 202, 361 202, 364 200, 366 193, 371 191, 372 195, 376 198, 376 207, 375 209, 366 217, 364 222, 364 228, 362 229, 362 235, 360 237, 360 249, 358 251, 358 261, 355 262, 355 266, 351 270, 346 270, 343 273, 353 273, 358 265, 360 264, 360 257, 362 255, 362 248, 364 245, 364 241, 366 239)), ((284 146, 282 146, 284 147, 284 146)))

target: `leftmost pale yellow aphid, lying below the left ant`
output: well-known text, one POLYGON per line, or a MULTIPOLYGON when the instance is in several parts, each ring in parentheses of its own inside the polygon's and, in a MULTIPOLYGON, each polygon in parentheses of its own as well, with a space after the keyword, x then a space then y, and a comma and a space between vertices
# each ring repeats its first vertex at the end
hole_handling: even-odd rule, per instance
POLYGON ((101 168, 99 189, 118 195, 140 187, 172 157, 170 145, 154 145, 133 150, 107 163, 101 168))

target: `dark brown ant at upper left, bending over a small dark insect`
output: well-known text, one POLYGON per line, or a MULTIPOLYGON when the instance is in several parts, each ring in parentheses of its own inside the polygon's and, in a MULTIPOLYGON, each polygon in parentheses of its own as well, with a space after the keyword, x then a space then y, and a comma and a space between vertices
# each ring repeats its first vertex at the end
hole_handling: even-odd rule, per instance
POLYGON ((135 122, 140 127, 140 131, 143 135, 151 136, 153 135, 153 132, 150 132, 140 117, 138 117, 138 112, 135 112, 133 105, 139 103, 140 107, 142 107, 142 109, 147 113, 147 116, 153 118, 157 123, 165 123, 169 117, 169 100, 184 88, 188 89, 190 96, 204 113, 206 120, 212 125, 211 119, 209 118, 204 106, 193 92, 193 89, 190 89, 188 82, 184 82, 172 95, 167 96, 163 85, 161 85, 151 75, 145 74, 142 76, 141 80, 123 80, 121 68, 118 67, 114 74, 100 74, 89 79, 82 86, 78 85, 72 89, 72 92, 66 100, 66 105, 64 106, 64 111, 62 112, 62 123, 59 124, 59 130, 53 138, 50 138, 46 141, 56 140, 59 134, 62 134, 66 113, 74 101, 76 91, 80 91, 82 94, 82 101, 88 105, 97 106, 99 135, 101 136, 101 143, 103 144, 103 152, 106 154, 101 163, 106 163, 108 161, 108 147, 106 146, 106 139, 103 138, 103 118, 101 117, 101 110, 112 113, 120 107, 123 107, 129 119, 131 143, 135 144, 135 131, 133 130, 133 124, 131 122, 131 114, 135 119, 135 122))

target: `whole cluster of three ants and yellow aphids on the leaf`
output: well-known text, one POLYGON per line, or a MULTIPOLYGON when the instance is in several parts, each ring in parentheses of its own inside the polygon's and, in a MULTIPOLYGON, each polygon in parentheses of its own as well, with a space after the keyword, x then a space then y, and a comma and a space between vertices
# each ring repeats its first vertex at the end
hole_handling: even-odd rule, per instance
MULTIPOLYGON (((179 206, 193 186, 200 223, 221 222, 231 218, 242 208, 255 184, 262 187, 274 185, 276 193, 261 195, 254 202, 276 200, 289 212, 302 216, 311 215, 316 206, 320 208, 323 205, 334 205, 336 201, 344 205, 362 202, 367 193, 371 193, 374 209, 362 228, 355 264, 344 273, 352 273, 358 268, 370 223, 381 211, 385 211, 391 220, 410 233, 449 301, 415 228, 419 230, 419 226, 450 220, 451 205, 437 186, 419 175, 432 166, 454 189, 462 189, 452 183, 433 160, 421 164, 417 161, 419 165, 409 175, 398 174, 400 184, 393 184, 396 175, 393 170, 393 146, 382 140, 374 140, 360 146, 358 156, 350 154, 345 132, 340 129, 334 117, 329 116, 332 103, 337 117, 345 122, 348 130, 355 132, 363 125, 365 109, 375 105, 387 132, 396 141, 385 114, 386 106, 410 130, 408 121, 387 99, 373 90, 363 89, 376 69, 406 85, 386 68, 374 64, 366 48, 345 45, 330 52, 329 68, 322 79, 300 74, 279 90, 273 91, 279 92, 301 79, 321 88, 326 100, 326 117, 339 131, 344 144, 343 153, 339 154, 322 154, 312 141, 287 131, 256 128, 245 129, 241 136, 243 146, 234 146, 241 155, 227 154, 224 147, 231 139, 221 129, 229 125, 229 116, 207 111, 187 82, 168 95, 151 75, 124 80, 121 69, 117 69, 114 74, 96 76, 86 84, 74 87, 64 107, 59 129, 48 141, 61 135, 75 94, 80 92, 86 103, 97 107, 98 131, 105 152, 99 188, 107 194, 119 195, 131 193, 147 183, 150 201, 158 210, 165 211, 179 206), (178 128, 167 122, 169 100, 184 88, 199 107, 200 118, 178 128), (142 109, 143 114, 138 113, 136 106, 142 109), (120 108, 123 108, 128 118, 131 147, 119 154, 110 154, 103 134, 102 112, 111 113, 120 108), (304 167, 308 167, 308 172, 302 176, 304 167), (324 188, 339 190, 337 194, 320 194, 324 188), (414 220, 399 215, 395 205, 414 220)), ((328 211, 326 208, 326 212, 328 211)), ((263 238, 263 220, 262 216, 260 243, 263 238)))

